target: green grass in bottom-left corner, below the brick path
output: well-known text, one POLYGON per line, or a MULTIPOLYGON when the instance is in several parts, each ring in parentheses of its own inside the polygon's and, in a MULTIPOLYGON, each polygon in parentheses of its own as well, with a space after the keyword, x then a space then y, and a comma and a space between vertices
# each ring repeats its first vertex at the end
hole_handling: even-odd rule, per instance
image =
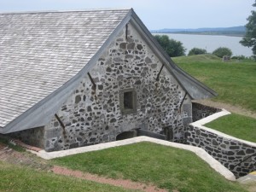
POLYGON ((13 166, 3 161, 0 161, 0 175, 0 191, 129 191, 107 184, 59 176, 50 172, 38 172, 21 166, 13 166))

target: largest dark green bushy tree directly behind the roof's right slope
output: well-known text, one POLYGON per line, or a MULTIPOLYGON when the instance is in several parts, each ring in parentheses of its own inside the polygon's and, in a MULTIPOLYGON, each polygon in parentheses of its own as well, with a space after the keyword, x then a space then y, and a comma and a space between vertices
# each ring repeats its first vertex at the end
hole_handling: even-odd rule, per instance
POLYGON ((155 35, 154 38, 162 46, 169 56, 182 56, 185 55, 186 49, 183 47, 183 43, 170 39, 167 35, 155 35))

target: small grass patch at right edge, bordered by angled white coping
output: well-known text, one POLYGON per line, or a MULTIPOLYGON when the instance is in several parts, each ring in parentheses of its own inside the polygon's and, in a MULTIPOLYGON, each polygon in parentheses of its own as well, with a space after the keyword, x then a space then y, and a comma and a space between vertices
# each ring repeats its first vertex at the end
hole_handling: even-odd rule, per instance
POLYGON ((214 130, 256 143, 256 119, 232 113, 206 124, 214 130))

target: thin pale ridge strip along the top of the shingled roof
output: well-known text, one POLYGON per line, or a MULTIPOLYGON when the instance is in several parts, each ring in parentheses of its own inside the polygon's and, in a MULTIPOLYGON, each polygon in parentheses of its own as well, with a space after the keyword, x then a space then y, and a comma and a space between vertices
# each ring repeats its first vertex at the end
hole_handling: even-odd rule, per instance
POLYGON ((93 12, 93 11, 122 11, 131 10, 132 8, 102 8, 102 9, 73 9, 73 10, 37 10, 37 11, 14 11, 14 12, 0 12, 0 15, 12 14, 44 14, 44 13, 69 13, 69 12, 93 12))

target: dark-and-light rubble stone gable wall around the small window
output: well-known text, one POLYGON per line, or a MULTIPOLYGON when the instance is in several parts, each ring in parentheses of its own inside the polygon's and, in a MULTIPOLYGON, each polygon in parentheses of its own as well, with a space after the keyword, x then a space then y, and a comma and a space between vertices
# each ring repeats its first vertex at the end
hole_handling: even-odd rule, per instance
POLYGON ((184 126, 192 122, 191 101, 187 96, 180 106, 185 92, 166 67, 156 80, 162 65, 129 25, 127 38, 124 29, 57 112, 65 129, 55 118, 45 126, 46 150, 115 141, 136 128, 162 133, 171 127, 172 139, 183 140, 184 126), (136 92, 136 109, 121 113, 120 94, 129 89, 136 92))

